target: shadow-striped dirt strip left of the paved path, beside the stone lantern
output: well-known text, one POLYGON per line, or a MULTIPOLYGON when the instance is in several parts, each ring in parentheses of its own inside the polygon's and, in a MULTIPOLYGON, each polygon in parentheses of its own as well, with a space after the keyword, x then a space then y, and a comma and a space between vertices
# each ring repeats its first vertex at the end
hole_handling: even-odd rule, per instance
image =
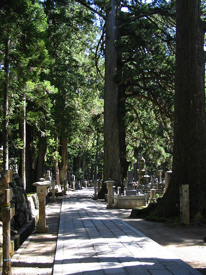
POLYGON ((12 275, 52 275, 53 261, 59 228, 62 197, 46 206, 49 233, 35 233, 28 237, 12 257, 12 275))

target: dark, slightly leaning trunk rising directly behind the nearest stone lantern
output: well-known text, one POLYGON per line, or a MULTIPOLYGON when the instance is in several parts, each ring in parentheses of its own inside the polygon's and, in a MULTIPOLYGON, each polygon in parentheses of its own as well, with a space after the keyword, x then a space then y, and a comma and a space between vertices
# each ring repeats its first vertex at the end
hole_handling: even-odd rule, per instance
POLYGON ((47 154, 47 137, 41 136, 39 137, 38 142, 38 157, 36 163, 36 181, 39 181, 40 178, 44 177, 44 165, 47 154))

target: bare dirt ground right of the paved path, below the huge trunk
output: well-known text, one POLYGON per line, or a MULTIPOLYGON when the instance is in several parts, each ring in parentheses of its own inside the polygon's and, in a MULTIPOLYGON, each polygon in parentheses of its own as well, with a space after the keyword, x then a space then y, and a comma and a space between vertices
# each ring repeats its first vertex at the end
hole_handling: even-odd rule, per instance
POLYGON ((206 243, 203 240, 206 224, 171 227, 162 222, 130 219, 131 210, 112 209, 111 212, 206 275, 206 243))

